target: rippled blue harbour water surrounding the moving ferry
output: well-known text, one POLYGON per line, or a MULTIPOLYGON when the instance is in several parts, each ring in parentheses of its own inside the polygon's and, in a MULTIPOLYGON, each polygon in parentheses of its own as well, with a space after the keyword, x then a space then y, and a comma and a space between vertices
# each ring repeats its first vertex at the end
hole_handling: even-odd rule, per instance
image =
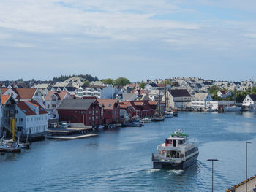
POLYGON ((254 113, 181 112, 141 128, 99 131, 98 137, 34 142, 20 154, 0 156, 0 191, 225 191, 256 174, 254 113), (197 164, 184 171, 152 169, 151 153, 176 128, 199 145, 197 164))

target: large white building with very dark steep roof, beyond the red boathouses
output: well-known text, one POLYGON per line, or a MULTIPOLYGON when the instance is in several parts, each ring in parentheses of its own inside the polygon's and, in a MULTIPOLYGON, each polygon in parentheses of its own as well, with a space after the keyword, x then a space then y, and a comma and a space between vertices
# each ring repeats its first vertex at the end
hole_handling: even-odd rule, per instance
POLYGON ((172 89, 170 94, 170 100, 168 100, 170 107, 181 109, 191 107, 191 95, 187 89, 172 89))

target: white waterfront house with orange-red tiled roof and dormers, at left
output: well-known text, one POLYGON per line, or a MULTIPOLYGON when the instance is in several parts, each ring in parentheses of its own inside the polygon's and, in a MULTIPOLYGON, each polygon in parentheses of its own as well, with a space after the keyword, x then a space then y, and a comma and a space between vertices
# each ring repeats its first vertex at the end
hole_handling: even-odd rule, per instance
POLYGON ((22 134, 45 132, 48 112, 37 101, 19 101, 15 107, 15 128, 22 134))

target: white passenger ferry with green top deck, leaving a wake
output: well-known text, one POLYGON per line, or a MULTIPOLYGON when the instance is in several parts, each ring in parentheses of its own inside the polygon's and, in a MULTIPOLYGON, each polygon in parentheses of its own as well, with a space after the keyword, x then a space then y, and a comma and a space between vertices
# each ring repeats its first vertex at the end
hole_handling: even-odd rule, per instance
POLYGON ((199 154, 195 142, 189 142, 189 135, 178 130, 158 145, 158 153, 152 154, 154 169, 186 169, 195 164, 199 154))

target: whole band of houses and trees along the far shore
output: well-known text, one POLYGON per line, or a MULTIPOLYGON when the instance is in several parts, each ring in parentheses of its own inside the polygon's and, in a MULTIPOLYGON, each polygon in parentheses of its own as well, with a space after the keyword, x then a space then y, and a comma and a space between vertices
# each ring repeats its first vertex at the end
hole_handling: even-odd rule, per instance
POLYGON ((0 134, 10 131, 10 118, 15 118, 15 129, 20 134, 32 135, 45 133, 55 121, 95 127, 134 117, 152 118, 172 110, 222 111, 233 106, 256 109, 256 82, 252 80, 171 77, 129 82, 124 77, 85 77, 91 76, 0 81, 0 134))

